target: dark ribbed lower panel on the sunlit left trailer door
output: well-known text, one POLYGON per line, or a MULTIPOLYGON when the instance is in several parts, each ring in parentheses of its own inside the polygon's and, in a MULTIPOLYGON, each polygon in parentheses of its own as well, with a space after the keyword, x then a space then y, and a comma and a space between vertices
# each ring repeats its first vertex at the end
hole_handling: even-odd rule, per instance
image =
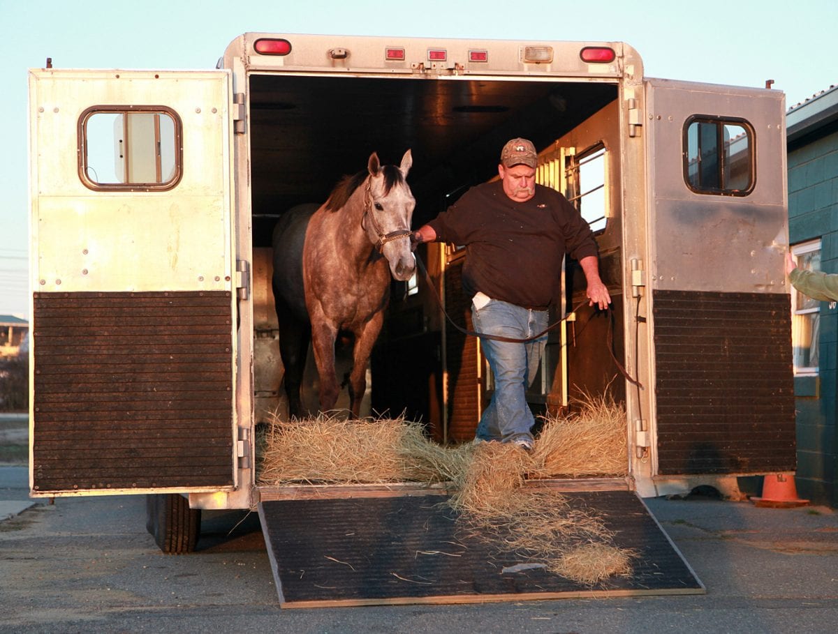
POLYGON ((232 484, 230 292, 34 296, 39 493, 232 484))

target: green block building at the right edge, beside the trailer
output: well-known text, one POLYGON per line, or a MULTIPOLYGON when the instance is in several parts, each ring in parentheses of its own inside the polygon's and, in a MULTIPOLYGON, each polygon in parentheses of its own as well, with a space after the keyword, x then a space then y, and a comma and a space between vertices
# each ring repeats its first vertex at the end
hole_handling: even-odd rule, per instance
MULTIPOLYGON (((838 86, 786 114, 789 240, 798 266, 838 273, 838 86)), ((792 289, 796 485, 838 507, 838 309, 792 289)))

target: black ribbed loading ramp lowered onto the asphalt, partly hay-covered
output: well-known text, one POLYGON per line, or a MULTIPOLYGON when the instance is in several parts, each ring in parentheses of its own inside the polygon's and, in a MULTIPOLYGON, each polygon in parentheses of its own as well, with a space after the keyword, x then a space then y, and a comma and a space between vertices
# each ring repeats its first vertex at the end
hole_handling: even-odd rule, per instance
POLYGON ((633 574, 589 586, 468 534, 443 494, 282 499, 259 505, 282 607, 478 603, 703 594, 704 585, 633 491, 565 493, 600 514, 633 574))

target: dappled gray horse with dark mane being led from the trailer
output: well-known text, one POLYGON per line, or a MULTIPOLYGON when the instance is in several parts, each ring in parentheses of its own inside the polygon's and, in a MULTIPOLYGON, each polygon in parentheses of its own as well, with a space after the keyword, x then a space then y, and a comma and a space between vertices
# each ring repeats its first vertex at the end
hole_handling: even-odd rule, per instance
POLYGON ((345 177, 325 204, 292 207, 274 228, 272 286, 292 417, 303 415, 300 386, 309 341, 320 411, 334 408, 340 389, 334 344, 341 332, 354 335, 349 402, 355 417, 360 412, 391 275, 406 281, 416 269, 410 244, 416 202, 406 182, 411 165, 410 150, 398 167, 380 165, 373 152, 367 169, 345 177))

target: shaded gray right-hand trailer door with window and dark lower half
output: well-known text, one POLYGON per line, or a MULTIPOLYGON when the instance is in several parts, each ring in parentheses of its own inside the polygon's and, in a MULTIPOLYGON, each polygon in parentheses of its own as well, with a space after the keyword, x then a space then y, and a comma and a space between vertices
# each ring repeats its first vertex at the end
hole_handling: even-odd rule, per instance
POLYGON ((659 474, 794 470, 784 95, 647 85, 659 474))

